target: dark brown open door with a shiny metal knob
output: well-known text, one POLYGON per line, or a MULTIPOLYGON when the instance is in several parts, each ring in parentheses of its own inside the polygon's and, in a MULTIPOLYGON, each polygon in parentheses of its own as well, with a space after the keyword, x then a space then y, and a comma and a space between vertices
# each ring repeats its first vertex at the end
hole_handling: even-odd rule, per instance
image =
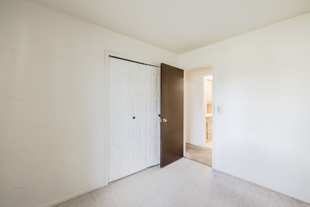
POLYGON ((160 167, 183 157, 184 71, 161 64, 160 167))

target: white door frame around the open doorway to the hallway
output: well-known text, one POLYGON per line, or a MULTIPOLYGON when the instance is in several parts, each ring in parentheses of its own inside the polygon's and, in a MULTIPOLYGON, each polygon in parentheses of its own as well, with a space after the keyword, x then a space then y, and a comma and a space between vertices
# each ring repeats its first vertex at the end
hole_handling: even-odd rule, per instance
MULTIPOLYGON (((216 168, 216 93, 215 93, 215 89, 216 89, 216 61, 215 60, 211 60, 211 61, 207 61, 207 62, 203 62, 200 64, 193 64, 193 65, 189 65, 186 67, 181 67, 181 69, 184 70, 184 85, 186 85, 186 71, 189 70, 194 70, 194 69, 198 69, 198 68, 202 68, 202 67, 206 67, 206 66, 210 66, 212 65, 212 168, 216 168)), ((211 74, 211 73, 210 73, 211 74)), ((186 93, 184 93, 184 131, 183 131, 183 137, 184 137, 184 148, 183 148, 183 155, 184 157, 186 156, 186 93)), ((203 97, 202 97, 203 98, 203 97)), ((203 102, 203 100, 202 100, 203 102)), ((202 106, 203 107, 203 106, 202 106)), ((204 121, 205 122, 205 121, 204 121)), ((202 125, 202 130, 205 130, 205 125, 202 125)), ((205 132, 204 132, 205 133, 205 132)))

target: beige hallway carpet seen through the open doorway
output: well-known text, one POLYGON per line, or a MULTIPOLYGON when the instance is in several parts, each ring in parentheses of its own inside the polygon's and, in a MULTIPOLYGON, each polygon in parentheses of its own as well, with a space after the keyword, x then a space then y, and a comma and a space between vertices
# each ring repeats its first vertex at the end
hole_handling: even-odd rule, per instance
POLYGON ((185 157, 212 167, 212 148, 186 143, 185 157))

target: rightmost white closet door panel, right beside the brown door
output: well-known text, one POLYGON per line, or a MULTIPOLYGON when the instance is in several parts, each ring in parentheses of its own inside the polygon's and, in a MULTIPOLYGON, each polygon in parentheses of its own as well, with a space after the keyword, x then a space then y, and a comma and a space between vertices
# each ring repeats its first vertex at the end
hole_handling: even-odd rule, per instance
POLYGON ((160 67, 147 66, 147 161, 146 167, 160 163, 160 67))

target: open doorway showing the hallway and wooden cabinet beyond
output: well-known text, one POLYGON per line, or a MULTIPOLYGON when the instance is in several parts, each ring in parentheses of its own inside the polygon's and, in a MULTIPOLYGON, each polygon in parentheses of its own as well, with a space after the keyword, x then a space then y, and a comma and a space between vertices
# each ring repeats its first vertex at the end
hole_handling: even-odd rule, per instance
POLYGON ((212 167, 212 65, 185 71, 185 157, 212 167))

